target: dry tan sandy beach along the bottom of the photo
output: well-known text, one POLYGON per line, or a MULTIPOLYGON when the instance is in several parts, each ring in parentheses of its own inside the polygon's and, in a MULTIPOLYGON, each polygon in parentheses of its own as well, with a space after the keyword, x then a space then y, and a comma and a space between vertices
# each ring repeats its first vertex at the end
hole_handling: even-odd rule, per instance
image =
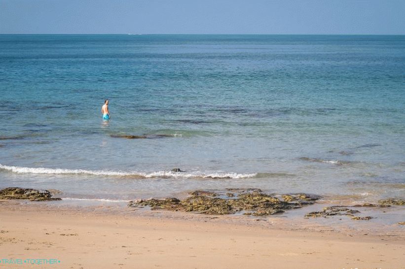
POLYGON ((404 268, 405 242, 395 236, 288 231, 187 215, 2 201, 1 267, 404 268), (17 264, 4 264, 10 261, 17 264))

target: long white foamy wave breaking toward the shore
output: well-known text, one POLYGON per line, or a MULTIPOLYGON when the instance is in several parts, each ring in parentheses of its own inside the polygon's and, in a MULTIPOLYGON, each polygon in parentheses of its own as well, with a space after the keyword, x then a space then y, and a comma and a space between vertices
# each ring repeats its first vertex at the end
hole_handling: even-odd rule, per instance
POLYGON ((100 176, 118 176, 131 178, 248 178, 254 177, 257 173, 227 173, 227 172, 201 172, 201 171, 186 171, 173 172, 170 170, 162 170, 156 172, 125 172, 111 170, 84 170, 84 169, 62 169, 62 168, 31 168, 31 167, 16 167, 4 166, 0 164, 0 169, 11 171, 14 173, 32 173, 32 174, 88 174, 100 176))

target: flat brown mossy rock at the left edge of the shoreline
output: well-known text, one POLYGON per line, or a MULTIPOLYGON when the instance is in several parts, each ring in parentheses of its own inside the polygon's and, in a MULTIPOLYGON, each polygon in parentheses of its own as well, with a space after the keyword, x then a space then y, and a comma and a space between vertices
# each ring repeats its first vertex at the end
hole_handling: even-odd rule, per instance
POLYGON ((59 201, 60 198, 52 198, 47 190, 34 190, 10 187, 0 190, 0 199, 27 199, 30 201, 59 201))

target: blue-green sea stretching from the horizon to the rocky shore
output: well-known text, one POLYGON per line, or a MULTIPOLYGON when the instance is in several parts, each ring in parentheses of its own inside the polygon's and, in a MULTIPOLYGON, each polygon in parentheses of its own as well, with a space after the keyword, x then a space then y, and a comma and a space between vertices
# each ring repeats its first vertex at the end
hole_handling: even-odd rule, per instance
POLYGON ((0 188, 405 197, 404 35, 0 35, 0 94, 0 188))

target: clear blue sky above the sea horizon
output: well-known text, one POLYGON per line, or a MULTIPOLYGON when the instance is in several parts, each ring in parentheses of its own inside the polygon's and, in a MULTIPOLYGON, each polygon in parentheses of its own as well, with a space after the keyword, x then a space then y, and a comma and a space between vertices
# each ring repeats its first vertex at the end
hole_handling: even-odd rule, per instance
POLYGON ((405 0, 0 0, 0 34, 405 34, 405 0))

